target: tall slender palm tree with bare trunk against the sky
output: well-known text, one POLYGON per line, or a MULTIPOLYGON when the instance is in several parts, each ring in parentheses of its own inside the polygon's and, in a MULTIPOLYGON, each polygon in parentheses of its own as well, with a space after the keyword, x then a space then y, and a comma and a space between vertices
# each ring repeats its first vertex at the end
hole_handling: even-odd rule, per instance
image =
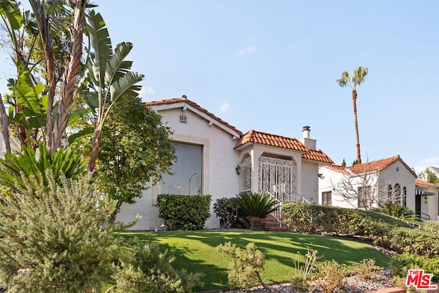
POLYGON ((352 89, 352 101, 354 104, 354 123, 355 123, 355 135, 357 136, 357 161, 361 164, 361 154, 359 152, 359 136, 358 136, 358 119, 357 119, 357 89, 364 82, 366 75, 368 75, 367 67, 358 67, 354 70, 352 78, 349 76, 348 71, 342 73, 342 78, 336 80, 336 82, 341 86, 350 86, 352 89))

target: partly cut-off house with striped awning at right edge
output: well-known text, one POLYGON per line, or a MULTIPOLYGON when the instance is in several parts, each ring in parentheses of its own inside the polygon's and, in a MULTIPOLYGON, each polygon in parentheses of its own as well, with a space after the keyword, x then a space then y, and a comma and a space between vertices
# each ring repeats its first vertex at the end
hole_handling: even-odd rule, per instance
POLYGON ((420 179, 415 184, 416 214, 421 220, 439 220, 439 185, 420 179))

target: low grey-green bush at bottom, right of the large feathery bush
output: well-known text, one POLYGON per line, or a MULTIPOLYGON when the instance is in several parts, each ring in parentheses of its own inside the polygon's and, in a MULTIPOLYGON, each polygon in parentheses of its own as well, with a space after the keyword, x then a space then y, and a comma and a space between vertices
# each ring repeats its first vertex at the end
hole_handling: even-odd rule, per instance
POLYGON ((145 244, 131 248, 121 259, 120 266, 113 266, 117 285, 113 292, 192 292, 195 285, 202 285, 202 274, 175 270, 174 257, 160 253, 158 244, 145 244))

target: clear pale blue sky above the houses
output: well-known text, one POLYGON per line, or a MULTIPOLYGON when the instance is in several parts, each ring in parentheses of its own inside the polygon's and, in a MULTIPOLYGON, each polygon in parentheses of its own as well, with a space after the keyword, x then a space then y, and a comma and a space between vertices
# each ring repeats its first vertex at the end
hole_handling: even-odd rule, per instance
MULTIPOLYGON (((419 172, 439 166, 439 1, 92 1, 113 46, 145 74, 143 100, 187 95, 242 132, 302 137, 335 163, 399 154, 419 172), (123 3, 123 5, 121 5, 123 3)), ((1 64, 7 64, 4 57, 1 64)), ((0 90, 14 71, 0 69, 0 90)))

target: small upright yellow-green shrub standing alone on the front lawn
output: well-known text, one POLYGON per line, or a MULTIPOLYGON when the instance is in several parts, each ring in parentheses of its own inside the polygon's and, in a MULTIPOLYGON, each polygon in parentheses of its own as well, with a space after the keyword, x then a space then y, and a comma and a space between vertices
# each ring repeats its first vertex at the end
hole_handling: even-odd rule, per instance
POLYGON ((230 259, 228 263, 228 281, 230 284, 247 288, 259 282, 265 290, 270 292, 261 277, 265 257, 260 250, 257 250, 253 242, 248 243, 245 250, 241 250, 235 244, 232 245, 231 242, 226 242, 224 245, 219 244, 217 251, 230 259))

